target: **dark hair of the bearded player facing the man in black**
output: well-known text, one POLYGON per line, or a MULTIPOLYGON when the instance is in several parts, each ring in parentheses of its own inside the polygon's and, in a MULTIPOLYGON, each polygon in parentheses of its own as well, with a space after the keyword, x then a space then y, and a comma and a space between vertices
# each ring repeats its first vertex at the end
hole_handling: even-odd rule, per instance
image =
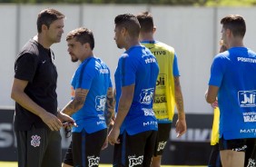
POLYGON ((88 28, 80 27, 69 32, 66 36, 66 41, 75 38, 75 41, 85 44, 90 44, 92 50, 94 50, 94 34, 88 28))

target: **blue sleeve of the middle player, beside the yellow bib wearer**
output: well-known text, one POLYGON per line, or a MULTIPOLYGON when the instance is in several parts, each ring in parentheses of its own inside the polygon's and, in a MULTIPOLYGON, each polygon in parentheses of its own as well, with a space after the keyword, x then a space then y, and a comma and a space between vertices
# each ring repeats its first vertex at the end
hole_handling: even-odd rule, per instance
POLYGON ((122 56, 120 58, 119 65, 121 70, 122 87, 135 83, 136 64, 133 58, 126 54, 126 56, 122 56))

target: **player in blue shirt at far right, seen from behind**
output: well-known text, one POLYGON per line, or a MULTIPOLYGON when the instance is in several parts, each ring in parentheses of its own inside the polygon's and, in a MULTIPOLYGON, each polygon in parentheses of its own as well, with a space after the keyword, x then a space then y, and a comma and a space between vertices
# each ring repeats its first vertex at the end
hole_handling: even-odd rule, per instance
MULTIPOLYGON (((247 143, 255 145, 256 138, 256 54, 243 45, 246 25, 241 15, 227 15, 221 24, 228 51, 214 57, 206 101, 214 103, 218 97, 222 165, 242 167, 247 143)), ((253 155, 249 166, 255 164, 253 155)))

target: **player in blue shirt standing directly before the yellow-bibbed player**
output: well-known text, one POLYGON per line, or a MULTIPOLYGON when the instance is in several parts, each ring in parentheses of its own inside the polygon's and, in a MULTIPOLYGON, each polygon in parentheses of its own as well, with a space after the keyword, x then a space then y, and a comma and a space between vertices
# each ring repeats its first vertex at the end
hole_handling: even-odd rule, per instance
POLYGON ((114 144, 113 166, 149 167, 157 134, 153 94, 159 67, 153 54, 139 42, 135 15, 117 15, 114 40, 125 52, 114 74, 116 119, 109 133, 114 144))

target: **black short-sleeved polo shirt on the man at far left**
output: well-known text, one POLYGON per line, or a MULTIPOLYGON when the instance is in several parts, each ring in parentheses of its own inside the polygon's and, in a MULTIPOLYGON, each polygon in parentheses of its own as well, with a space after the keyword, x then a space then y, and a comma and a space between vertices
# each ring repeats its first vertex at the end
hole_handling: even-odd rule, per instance
MULTIPOLYGON (((57 112, 57 71, 53 63, 54 54, 31 39, 25 44, 15 61, 15 78, 28 81, 25 93, 47 112, 57 112)), ((47 125, 34 113, 28 112, 19 103, 15 103, 15 131, 30 130, 47 125)))

